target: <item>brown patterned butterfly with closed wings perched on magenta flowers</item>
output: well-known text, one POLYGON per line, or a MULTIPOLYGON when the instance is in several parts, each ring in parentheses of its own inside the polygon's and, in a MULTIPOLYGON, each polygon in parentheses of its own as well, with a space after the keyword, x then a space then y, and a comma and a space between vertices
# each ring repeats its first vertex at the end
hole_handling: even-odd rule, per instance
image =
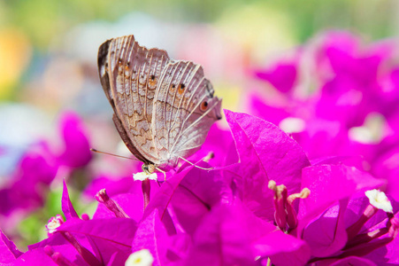
POLYGON ((100 46, 98 72, 119 135, 148 174, 196 153, 221 118, 202 66, 140 46, 134 35, 100 46))

